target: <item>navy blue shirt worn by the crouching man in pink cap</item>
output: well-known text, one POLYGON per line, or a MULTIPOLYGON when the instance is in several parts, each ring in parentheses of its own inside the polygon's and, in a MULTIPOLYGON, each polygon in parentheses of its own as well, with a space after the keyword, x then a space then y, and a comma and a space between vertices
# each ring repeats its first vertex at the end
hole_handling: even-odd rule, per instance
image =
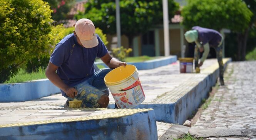
POLYGON ((55 47, 50 62, 59 66, 57 74, 60 79, 72 87, 85 81, 94 74, 94 60, 107 54, 107 48, 96 34, 98 46, 84 48, 77 43, 74 33, 65 36, 55 47))

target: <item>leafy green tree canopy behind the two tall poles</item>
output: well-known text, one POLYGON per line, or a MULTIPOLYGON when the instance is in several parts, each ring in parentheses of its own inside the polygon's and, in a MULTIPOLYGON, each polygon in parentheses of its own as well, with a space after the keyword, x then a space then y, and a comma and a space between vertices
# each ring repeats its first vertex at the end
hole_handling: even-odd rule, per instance
MULTIPOLYGON (((162 23, 162 0, 120 0, 121 34, 132 38, 148 31, 153 25, 162 23)), ((89 0, 85 4, 85 13, 75 17, 88 18, 94 25, 107 34, 116 33, 115 1, 89 0)), ((178 10, 178 3, 168 1, 169 18, 178 10)))

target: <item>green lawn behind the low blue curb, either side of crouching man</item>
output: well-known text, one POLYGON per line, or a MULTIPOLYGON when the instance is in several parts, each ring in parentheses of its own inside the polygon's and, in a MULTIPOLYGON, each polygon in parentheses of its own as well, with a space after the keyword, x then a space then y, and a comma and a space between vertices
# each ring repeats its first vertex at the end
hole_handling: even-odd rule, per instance
MULTIPOLYGON (((137 56, 137 57, 128 57, 126 59, 126 62, 142 62, 142 61, 147 61, 147 60, 152 60, 152 59, 157 59, 161 57, 150 57, 150 56, 137 56)), ((97 61, 100 61, 98 59, 97 61)), ((97 65, 99 69, 105 68, 104 66, 98 64, 97 65)), ((45 69, 39 68, 36 72, 32 73, 27 73, 24 69, 20 69, 18 71, 18 74, 14 77, 11 77, 10 80, 5 81, 5 84, 10 84, 10 83, 18 83, 18 82, 26 82, 26 81, 32 81, 32 80, 37 80, 37 79, 45 79, 45 69)))

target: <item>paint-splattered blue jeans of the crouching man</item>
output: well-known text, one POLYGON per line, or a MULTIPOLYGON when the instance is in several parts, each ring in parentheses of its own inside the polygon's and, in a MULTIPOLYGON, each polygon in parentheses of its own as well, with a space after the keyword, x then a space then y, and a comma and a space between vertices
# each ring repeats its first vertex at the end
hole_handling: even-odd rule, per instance
MULTIPOLYGON (((100 69, 86 81, 74 86, 74 88, 78 91, 75 98, 77 100, 82 100, 81 107, 99 108, 99 103, 97 101, 102 95, 105 94, 102 91, 107 89, 104 83, 104 77, 111 70, 112 69, 100 69)), ((105 95, 109 96, 108 94, 105 95)), ((64 97, 69 100, 74 100, 73 98, 68 97, 66 94, 64 97)))

